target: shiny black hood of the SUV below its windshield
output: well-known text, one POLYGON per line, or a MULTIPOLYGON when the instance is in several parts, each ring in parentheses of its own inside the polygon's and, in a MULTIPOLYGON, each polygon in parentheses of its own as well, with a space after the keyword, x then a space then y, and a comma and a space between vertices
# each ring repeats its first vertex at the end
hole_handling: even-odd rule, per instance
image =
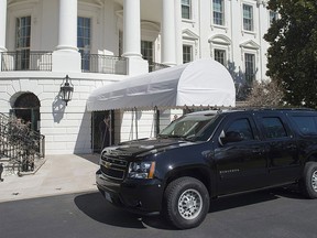
POLYGON ((102 153, 109 156, 135 158, 138 155, 147 155, 157 153, 162 150, 193 144, 193 142, 182 141, 178 139, 141 139, 120 143, 117 147, 105 148, 102 153))

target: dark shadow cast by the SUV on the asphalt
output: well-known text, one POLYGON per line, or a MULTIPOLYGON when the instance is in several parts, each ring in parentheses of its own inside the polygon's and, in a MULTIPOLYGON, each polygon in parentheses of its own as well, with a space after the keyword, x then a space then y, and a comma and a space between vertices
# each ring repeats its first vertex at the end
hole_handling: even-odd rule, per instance
MULTIPOLYGON (((212 213, 265 203, 281 197, 303 199, 300 194, 288 188, 274 188, 226 196, 211 201, 208 216, 212 215, 212 213)), ((175 230, 162 216, 140 216, 117 208, 109 204, 99 192, 78 195, 74 202, 76 206, 91 219, 110 226, 136 229, 152 227, 163 230, 175 230)))

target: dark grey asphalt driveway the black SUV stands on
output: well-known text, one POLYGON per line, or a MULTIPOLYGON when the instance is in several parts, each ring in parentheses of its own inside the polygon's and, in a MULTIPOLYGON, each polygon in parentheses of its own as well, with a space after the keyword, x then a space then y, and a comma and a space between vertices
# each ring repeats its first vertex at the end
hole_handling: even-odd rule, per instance
POLYGON ((97 192, 0 203, 0 234, 21 237, 315 238, 317 201, 271 190, 212 201, 195 229, 175 230, 161 217, 140 217, 107 204, 97 192))

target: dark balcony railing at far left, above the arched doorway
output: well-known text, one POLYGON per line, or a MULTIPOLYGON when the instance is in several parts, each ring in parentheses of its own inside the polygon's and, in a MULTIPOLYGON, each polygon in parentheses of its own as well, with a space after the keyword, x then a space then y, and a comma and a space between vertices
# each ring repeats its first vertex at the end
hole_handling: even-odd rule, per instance
POLYGON ((1 53, 1 71, 52 71, 52 52, 28 50, 1 53))

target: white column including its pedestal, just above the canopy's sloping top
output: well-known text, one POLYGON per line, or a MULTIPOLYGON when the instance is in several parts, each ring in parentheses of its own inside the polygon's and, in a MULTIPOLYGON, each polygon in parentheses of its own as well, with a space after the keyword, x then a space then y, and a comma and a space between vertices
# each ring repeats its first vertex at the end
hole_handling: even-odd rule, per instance
POLYGON ((147 61, 141 55, 141 7, 140 0, 123 1, 123 54, 128 57, 128 74, 149 72, 147 61))

